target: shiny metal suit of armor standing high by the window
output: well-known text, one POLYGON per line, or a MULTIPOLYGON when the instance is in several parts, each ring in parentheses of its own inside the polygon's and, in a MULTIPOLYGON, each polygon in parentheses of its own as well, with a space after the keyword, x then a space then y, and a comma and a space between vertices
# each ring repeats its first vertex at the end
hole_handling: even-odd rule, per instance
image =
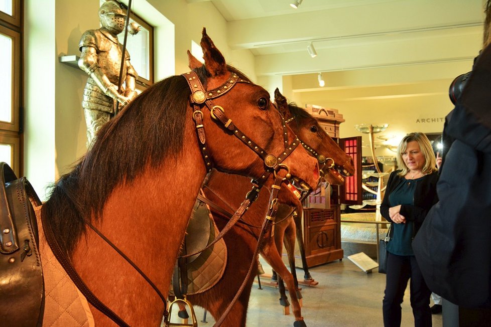
POLYGON ((127 105, 136 95, 138 74, 125 51, 121 81, 125 90, 119 93, 118 80, 122 57, 122 45, 117 35, 124 30, 126 13, 113 1, 107 1, 99 9, 102 27, 86 31, 81 39, 78 66, 89 78, 85 84, 82 107, 87 125, 87 146, 92 143, 97 130, 115 114, 118 103, 127 105))

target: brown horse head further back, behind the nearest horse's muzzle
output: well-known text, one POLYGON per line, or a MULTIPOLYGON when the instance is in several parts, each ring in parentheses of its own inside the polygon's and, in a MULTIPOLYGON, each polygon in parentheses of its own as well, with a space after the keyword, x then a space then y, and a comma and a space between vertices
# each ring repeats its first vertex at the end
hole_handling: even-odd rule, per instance
POLYGON ((302 145, 319 161, 323 178, 333 185, 342 185, 343 176, 354 175, 353 158, 319 126, 317 120, 308 112, 293 104, 275 90, 275 102, 290 127, 302 141, 302 145))

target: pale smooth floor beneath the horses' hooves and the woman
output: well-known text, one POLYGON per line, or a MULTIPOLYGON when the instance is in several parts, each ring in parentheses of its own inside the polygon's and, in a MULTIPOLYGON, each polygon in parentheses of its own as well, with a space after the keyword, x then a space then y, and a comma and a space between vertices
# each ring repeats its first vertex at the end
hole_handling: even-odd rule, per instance
MULTIPOLYGON (((264 260, 266 273, 271 269, 264 260)), ((335 261, 310 269, 312 277, 319 282, 315 287, 303 286, 302 315, 309 327, 327 326, 383 326, 382 298, 385 288, 385 275, 374 269, 364 273, 349 259, 335 261)), ((303 276, 303 271, 297 269, 303 276)), ((293 326, 293 313, 283 315, 278 302, 278 292, 273 287, 258 289, 253 284, 249 304, 247 327, 293 326)), ((198 326, 212 326, 213 318, 207 315, 207 322, 201 322, 203 309, 195 308, 198 326)), ((413 326, 413 314, 409 303, 409 287, 402 304, 402 326, 413 326)), ((442 326, 442 315, 433 315, 433 326, 442 326)), ((238 327, 238 326, 237 326, 238 327)))

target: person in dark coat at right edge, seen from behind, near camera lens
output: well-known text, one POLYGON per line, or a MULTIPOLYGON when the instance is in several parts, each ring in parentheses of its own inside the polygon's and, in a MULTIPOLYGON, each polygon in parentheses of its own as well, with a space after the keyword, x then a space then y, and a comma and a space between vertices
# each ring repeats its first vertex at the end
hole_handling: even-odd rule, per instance
MULTIPOLYGON (((431 290, 468 308, 489 306, 491 302, 490 44, 488 0, 483 50, 444 128, 444 136, 453 143, 437 186, 440 201, 428 213, 413 242, 431 290)), ((482 319, 481 324, 474 325, 488 323, 482 319)))

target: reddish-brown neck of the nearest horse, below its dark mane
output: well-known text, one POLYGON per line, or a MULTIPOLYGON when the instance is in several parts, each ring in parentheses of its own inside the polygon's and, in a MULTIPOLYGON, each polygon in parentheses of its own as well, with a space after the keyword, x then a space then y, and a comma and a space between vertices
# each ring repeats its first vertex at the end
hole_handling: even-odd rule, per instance
MULTIPOLYGON (((189 134, 194 131, 186 133, 194 135, 189 134)), ((165 296, 205 176, 196 138, 187 137, 184 142, 177 157, 165 159, 157 168, 148 166, 134 181, 116 187, 96 224, 165 296)), ((94 294, 127 323, 160 324, 164 306, 155 290, 90 229, 72 260, 94 294)), ((106 321, 92 311, 96 321, 106 321)))

